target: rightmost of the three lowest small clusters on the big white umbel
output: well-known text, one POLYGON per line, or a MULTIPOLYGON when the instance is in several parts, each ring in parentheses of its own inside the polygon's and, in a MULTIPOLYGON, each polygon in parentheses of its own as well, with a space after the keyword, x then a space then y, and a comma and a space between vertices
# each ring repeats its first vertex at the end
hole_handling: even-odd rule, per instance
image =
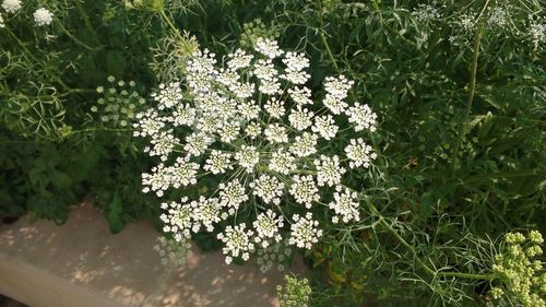
POLYGON ((319 222, 312 220, 311 212, 307 212, 305 216, 294 214, 292 220, 294 220, 294 224, 290 225, 292 232, 288 244, 311 249, 312 245, 318 243, 322 236, 322 231, 318 228, 319 222))

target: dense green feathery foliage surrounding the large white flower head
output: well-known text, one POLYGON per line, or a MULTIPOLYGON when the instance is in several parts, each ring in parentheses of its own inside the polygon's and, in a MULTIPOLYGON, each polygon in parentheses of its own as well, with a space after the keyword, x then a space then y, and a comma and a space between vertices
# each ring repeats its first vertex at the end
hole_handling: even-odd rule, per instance
MULTIPOLYGON (((90 194, 112 232, 139 219, 161 229, 159 200, 141 192, 155 160, 133 137, 135 115, 154 105, 159 83, 183 72, 195 46, 219 60, 269 37, 307 55, 313 93, 343 74, 355 82, 349 99, 379 118, 367 135, 378 157, 347 178, 365 196, 360 221, 328 224, 301 251, 316 272, 310 306, 369 297, 539 306, 494 269, 503 261, 496 255, 515 257, 510 246, 539 244, 529 229, 546 234, 539 1, 21 2, 0 9, 0 217, 61 224, 90 194), (36 24, 38 8, 52 13, 50 24, 36 24), (527 240, 505 236, 517 231, 527 240)), ((193 239, 219 247, 206 233, 193 239)), ((518 276, 544 297, 544 269, 531 275, 518 276)))

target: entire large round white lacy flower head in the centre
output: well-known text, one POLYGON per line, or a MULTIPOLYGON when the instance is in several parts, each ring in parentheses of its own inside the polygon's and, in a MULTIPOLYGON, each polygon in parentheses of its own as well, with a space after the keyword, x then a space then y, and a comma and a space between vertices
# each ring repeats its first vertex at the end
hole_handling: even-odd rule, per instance
POLYGON ((345 144, 345 156, 328 152, 330 142, 344 142, 337 140, 341 131, 376 131, 377 115, 346 102, 354 82, 329 76, 323 99, 313 99, 306 86, 309 59, 265 38, 258 39, 256 52, 236 49, 224 62, 217 68, 214 54, 194 52, 181 81, 161 84, 152 94, 157 106, 133 125, 134 135, 150 139, 145 152, 161 158, 142 174, 144 192, 164 197, 170 189, 217 182, 199 189, 207 193, 199 200, 165 202, 164 232, 183 241, 237 221, 217 235, 229 263, 283 237, 310 249, 322 235, 310 211, 331 211, 334 222, 359 221, 356 192, 342 179, 349 167, 369 167, 376 154, 361 138, 345 144))

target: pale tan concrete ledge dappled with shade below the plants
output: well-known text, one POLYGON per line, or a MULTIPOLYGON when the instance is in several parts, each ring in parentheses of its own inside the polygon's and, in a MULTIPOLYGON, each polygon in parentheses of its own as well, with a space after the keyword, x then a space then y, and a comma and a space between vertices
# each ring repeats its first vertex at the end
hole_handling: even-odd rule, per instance
POLYGON ((167 268, 153 250, 157 238, 146 222, 111 235, 90 204, 74 208, 63 226, 26 219, 2 225, 0 293, 32 307, 278 306, 284 273, 263 274, 252 260, 226 265, 219 252, 197 248, 187 263, 167 268))

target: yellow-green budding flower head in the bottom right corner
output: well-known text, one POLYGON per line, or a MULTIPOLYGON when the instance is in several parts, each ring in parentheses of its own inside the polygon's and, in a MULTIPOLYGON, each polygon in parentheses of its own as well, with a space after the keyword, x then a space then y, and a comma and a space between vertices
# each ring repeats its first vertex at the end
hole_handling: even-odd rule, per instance
POLYGON ((525 237, 521 233, 509 233, 501 253, 495 257, 492 270, 499 276, 500 284, 490 295, 494 299, 518 302, 521 306, 544 307, 546 302, 546 273, 537 259, 543 253, 544 239, 537 231, 531 231, 525 237))

